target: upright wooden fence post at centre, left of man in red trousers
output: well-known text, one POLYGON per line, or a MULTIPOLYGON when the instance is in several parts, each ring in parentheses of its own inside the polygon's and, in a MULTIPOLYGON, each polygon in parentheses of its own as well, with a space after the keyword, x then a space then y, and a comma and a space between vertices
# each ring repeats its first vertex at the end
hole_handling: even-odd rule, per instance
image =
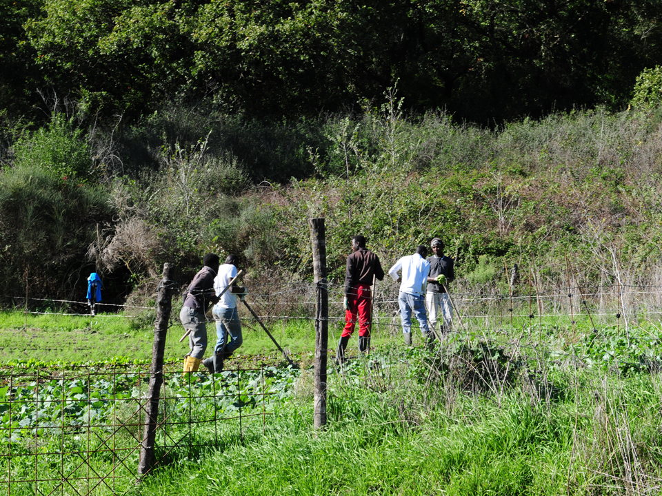
POLYGON ((323 218, 313 218, 310 224, 312 260, 315 274, 315 378, 314 428, 326 425, 326 362, 329 344, 329 295, 326 280, 326 232, 323 218))

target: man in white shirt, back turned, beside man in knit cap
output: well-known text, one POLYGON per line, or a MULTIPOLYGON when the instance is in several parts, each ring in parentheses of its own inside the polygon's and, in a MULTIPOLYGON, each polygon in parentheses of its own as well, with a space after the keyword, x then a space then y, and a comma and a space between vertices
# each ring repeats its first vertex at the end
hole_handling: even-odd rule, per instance
POLYGON ((430 262, 425 260, 428 249, 419 245, 416 253, 403 256, 395 262, 388 271, 389 276, 395 282, 400 282, 400 294, 398 304, 400 305, 400 320, 402 321, 402 332, 405 344, 412 344, 412 312, 419 321, 419 327, 423 338, 428 344, 434 341, 434 334, 428 328, 428 315, 425 313, 425 288, 428 286, 428 274, 430 273, 430 262), (402 277, 398 272, 402 272, 402 277))

